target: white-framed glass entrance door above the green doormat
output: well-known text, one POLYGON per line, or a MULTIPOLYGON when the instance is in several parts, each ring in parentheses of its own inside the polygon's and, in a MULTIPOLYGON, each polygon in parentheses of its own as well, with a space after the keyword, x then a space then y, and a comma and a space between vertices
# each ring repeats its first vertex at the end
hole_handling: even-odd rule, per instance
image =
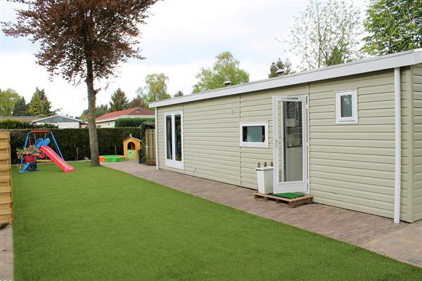
POLYGON ((308 192, 307 97, 273 97, 274 193, 308 192))

